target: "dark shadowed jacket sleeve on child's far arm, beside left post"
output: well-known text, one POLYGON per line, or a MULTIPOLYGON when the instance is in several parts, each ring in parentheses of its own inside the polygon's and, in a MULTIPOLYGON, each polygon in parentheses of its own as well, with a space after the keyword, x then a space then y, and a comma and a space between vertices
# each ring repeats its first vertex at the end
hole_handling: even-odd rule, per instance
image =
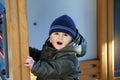
POLYGON ((41 51, 36 48, 29 47, 29 55, 37 62, 40 60, 41 51))

